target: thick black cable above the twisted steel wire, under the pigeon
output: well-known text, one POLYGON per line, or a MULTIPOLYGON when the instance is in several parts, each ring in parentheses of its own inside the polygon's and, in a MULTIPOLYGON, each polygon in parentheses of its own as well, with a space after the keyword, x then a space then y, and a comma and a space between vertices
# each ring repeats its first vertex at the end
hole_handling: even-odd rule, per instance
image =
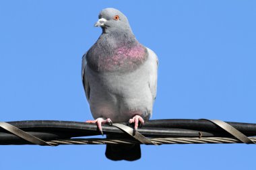
MULTIPOLYGON (((42 140, 57 140, 79 136, 95 136, 100 132, 96 124, 55 120, 29 120, 7 122, 42 140)), ((256 124, 227 122, 247 136, 256 135, 256 124)), ((131 125, 132 127, 132 125, 131 125)), ((121 134, 129 138, 121 130, 110 125, 102 125, 104 134, 121 134)), ((207 120, 150 120, 138 132, 147 137, 198 137, 198 136, 230 136, 221 128, 207 120)), ((0 144, 30 144, 3 129, 0 129, 0 144)))

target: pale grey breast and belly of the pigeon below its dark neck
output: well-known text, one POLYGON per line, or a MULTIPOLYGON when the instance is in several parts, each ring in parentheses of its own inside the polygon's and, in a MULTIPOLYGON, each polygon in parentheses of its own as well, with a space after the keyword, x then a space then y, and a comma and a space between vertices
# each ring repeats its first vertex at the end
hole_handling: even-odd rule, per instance
POLYGON ((149 85, 151 73, 150 59, 127 73, 102 73, 87 67, 89 103, 94 118, 110 118, 113 122, 126 122, 135 114, 146 120, 150 118, 154 102, 149 85))

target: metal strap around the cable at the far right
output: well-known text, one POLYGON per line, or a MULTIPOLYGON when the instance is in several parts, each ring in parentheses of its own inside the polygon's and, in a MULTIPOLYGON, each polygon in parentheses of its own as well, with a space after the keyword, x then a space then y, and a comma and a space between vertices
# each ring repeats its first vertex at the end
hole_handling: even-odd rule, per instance
MULTIPOLYGON (((201 120, 207 120, 207 119, 201 119, 201 120)), ((231 134, 232 136, 234 136, 235 138, 240 140, 241 142, 244 142, 246 144, 256 144, 255 142, 253 142, 253 140, 251 140, 250 138, 245 136, 245 134, 243 134, 242 132, 240 132, 239 130, 237 130, 236 128, 231 126, 230 124, 223 122, 222 120, 207 120, 207 121, 210 121, 210 122, 216 124, 223 130, 225 130, 226 132, 228 132, 229 134, 231 134)))

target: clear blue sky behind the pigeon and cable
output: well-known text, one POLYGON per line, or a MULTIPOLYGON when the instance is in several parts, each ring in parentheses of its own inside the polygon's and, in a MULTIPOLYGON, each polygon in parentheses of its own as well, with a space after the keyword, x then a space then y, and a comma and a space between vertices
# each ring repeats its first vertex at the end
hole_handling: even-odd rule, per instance
MULTIPOLYGON (((81 59, 106 7, 158 55, 152 119, 256 123, 255 1, 1 1, 0 121, 92 119, 81 59)), ((0 169, 255 168, 253 145, 141 148, 139 161, 113 162, 104 145, 0 146, 0 169)))

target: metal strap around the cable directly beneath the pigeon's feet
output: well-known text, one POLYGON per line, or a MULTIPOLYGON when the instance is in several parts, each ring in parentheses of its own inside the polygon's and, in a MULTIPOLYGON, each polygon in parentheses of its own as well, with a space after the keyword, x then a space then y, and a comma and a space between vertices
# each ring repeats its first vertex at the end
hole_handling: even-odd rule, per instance
MULTIPOLYGON (((133 128, 130 128, 129 126, 125 126, 124 124, 113 124, 113 126, 127 132, 127 134, 129 134, 136 140, 139 140, 139 142, 141 142, 142 144, 155 144, 149 138, 146 138, 145 136, 143 136, 142 134, 137 132, 137 130, 133 130, 133 128)), ((157 145, 157 144, 155 144, 155 145, 157 145)))

